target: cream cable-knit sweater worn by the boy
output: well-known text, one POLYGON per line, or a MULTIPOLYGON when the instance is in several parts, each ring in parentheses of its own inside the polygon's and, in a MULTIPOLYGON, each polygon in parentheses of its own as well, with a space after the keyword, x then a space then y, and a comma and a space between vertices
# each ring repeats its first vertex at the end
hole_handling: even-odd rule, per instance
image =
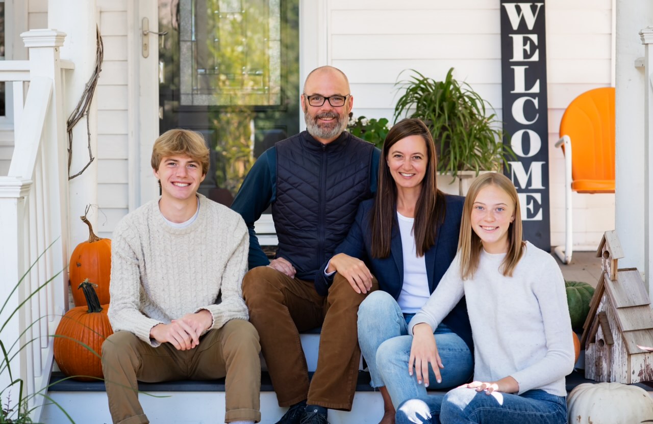
POLYGON ((131 331, 150 339, 150 329, 184 314, 206 309, 211 328, 229 320, 249 319, 242 298, 247 271, 249 234, 240 215, 198 194, 197 219, 172 228, 159 200, 124 217, 111 241, 111 303, 108 316, 114 331, 131 331), (216 303, 221 293, 221 303, 216 303))

